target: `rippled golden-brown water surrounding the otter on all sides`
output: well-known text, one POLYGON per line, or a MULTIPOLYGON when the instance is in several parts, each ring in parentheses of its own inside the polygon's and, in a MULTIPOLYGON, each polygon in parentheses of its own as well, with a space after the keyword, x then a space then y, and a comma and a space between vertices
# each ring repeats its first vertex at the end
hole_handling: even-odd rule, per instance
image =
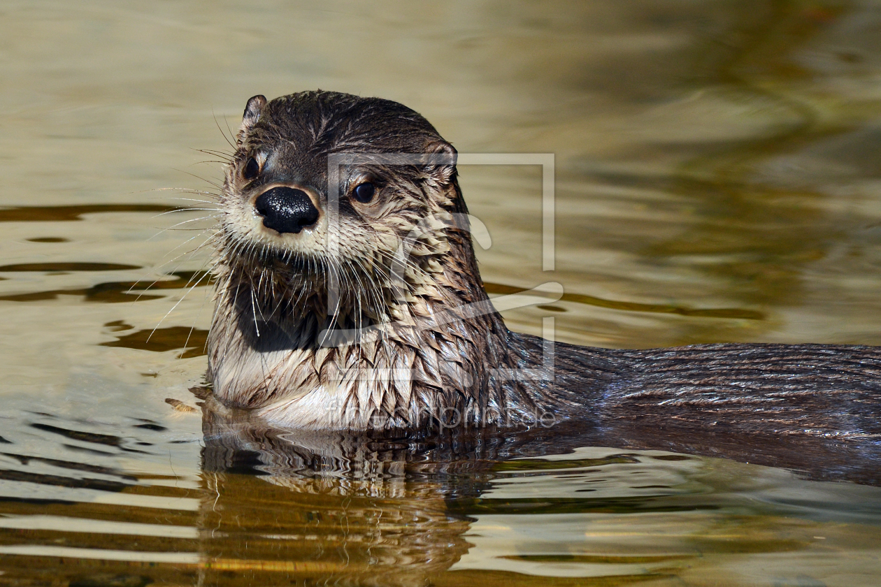
POLYGON ((554 154, 553 271, 539 168, 462 169, 488 289, 564 286, 516 330, 881 344, 881 4, 11 0, 0 32, 0 584, 878 583, 879 488, 203 422, 212 212, 160 188, 213 190, 196 149, 255 93, 379 95, 554 154))

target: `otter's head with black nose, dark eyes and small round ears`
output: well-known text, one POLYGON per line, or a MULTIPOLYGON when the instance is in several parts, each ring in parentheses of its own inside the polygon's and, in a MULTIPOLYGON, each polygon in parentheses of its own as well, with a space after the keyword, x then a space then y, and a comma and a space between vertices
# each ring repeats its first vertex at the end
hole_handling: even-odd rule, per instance
POLYGON ((226 169, 218 248, 233 265, 271 262, 300 275, 388 265, 419 223, 452 210, 455 165, 369 160, 382 153, 455 156, 428 121, 389 100, 337 92, 249 99, 226 169), (334 165, 348 154, 359 157, 334 165))

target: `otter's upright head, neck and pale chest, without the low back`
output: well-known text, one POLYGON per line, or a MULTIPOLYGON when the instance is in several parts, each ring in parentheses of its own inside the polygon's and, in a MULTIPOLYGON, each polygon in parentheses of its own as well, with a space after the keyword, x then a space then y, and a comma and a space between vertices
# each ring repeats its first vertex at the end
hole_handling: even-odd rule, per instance
POLYGON ((542 408, 495 374, 528 354, 486 297, 455 163, 343 165, 331 255, 332 153, 455 160, 428 121, 389 100, 319 91, 248 101, 215 242, 208 378, 218 398, 310 429, 512 424, 542 408), (483 311, 456 313, 465 306, 483 311))

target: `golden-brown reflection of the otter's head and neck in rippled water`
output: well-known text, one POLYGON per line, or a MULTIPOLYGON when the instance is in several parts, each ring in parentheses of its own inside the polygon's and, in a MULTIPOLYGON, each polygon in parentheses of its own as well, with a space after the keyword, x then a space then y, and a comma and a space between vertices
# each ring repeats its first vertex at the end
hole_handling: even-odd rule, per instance
POLYGON ((442 466, 409 466, 400 450, 372 451, 345 438, 296 444, 284 433, 240 429, 233 437, 213 428, 204 467, 216 500, 204 504, 202 547, 218 562, 206 569, 207 584, 230 570, 258 584, 279 572, 328 583, 424 584, 470 546, 468 519, 448 511, 446 484, 436 479, 442 466), (259 476, 242 474, 248 466, 259 476))

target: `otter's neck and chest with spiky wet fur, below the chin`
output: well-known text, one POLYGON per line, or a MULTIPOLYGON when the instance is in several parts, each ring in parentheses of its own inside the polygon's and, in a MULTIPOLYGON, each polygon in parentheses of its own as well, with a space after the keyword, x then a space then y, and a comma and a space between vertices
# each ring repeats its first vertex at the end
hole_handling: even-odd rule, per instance
POLYGON ((352 289, 357 276, 348 275, 335 305, 326 289, 308 287, 315 280, 291 296, 266 280, 290 286, 296 275, 219 260, 208 345, 215 393, 303 428, 510 423, 511 406, 533 404, 498 375, 519 366, 519 339, 486 296, 468 235, 446 237, 446 250, 403 273, 403 297, 400 284, 352 289))

